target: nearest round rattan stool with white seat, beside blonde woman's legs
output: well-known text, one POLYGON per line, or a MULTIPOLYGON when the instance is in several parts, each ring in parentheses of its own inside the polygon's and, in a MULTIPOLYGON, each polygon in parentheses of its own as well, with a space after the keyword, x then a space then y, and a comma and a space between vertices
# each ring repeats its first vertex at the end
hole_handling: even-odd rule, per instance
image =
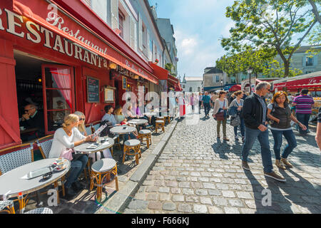
POLYGON ((114 175, 116 191, 118 191, 117 165, 115 160, 111 158, 103 158, 93 163, 91 166, 90 190, 93 190, 94 185, 97 187, 96 199, 98 202, 101 202, 103 186, 107 185, 108 182, 111 181, 111 174, 114 175), (96 183, 94 183, 95 180, 96 183))

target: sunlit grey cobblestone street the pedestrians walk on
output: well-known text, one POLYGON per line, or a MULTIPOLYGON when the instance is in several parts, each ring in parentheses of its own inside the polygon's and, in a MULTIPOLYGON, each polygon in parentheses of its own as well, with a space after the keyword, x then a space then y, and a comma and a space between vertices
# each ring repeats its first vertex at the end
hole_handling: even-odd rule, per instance
POLYGON ((189 125, 191 118, 193 115, 187 115, 178 123, 161 157, 124 213, 321 212, 320 150, 315 132, 302 137, 295 130, 297 147, 289 157, 294 167, 287 170, 275 166, 270 133, 274 171, 286 178, 282 183, 263 175, 258 140, 249 155, 251 171, 245 171, 240 161, 242 141, 235 142, 229 122, 230 142, 223 142, 216 139, 216 121, 212 117, 204 118, 203 110, 196 125, 189 125), (271 206, 262 204, 265 189, 272 193, 271 206))

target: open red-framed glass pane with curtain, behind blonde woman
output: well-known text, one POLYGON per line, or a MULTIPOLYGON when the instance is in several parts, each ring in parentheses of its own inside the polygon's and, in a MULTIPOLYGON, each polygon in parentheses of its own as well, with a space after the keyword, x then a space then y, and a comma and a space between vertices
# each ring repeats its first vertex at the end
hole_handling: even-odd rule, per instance
POLYGON ((61 128, 65 115, 75 111, 73 68, 62 65, 41 66, 46 135, 61 128))

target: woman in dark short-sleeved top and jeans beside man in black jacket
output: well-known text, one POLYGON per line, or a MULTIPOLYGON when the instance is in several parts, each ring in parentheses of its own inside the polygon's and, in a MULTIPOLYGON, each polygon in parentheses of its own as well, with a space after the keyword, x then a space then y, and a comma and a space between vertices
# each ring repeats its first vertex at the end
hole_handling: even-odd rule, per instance
POLYGON ((287 161, 287 157, 297 146, 297 140, 295 140, 295 135, 291 127, 291 120, 300 125, 302 130, 306 130, 307 127, 292 115, 287 93, 279 91, 273 95, 271 103, 267 105, 267 118, 273 121, 270 125, 270 130, 274 138, 275 165, 283 170, 286 169, 284 165, 292 168, 293 166, 287 161), (287 140, 287 145, 282 152, 282 157, 280 157, 282 135, 284 135, 287 140))

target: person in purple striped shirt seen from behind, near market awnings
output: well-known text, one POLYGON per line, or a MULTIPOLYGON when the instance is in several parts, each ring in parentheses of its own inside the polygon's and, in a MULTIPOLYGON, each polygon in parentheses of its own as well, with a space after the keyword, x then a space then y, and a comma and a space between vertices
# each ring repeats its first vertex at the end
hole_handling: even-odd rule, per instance
POLYGON ((309 133, 309 120, 312 113, 312 106, 315 104, 315 100, 307 95, 309 90, 302 89, 299 96, 295 97, 293 100, 293 106, 295 106, 295 113, 297 115, 297 120, 303 123, 307 130, 302 130, 299 128, 300 135, 307 135, 309 133))

